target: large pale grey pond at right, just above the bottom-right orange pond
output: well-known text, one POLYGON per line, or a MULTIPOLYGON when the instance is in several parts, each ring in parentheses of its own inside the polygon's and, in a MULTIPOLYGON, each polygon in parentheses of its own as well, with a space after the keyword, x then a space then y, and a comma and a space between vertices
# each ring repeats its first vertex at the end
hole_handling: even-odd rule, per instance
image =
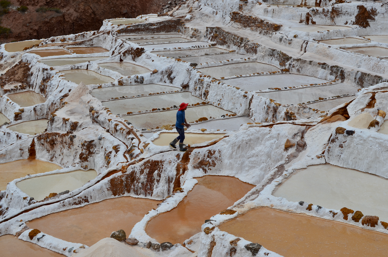
POLYGON ((388 221, 388 179, 354 169, 331 164, 308 166, 294 172, 272 195, 328 209, 347 207, 388 221), (354 193, 356 188, 360 193, 354 193))

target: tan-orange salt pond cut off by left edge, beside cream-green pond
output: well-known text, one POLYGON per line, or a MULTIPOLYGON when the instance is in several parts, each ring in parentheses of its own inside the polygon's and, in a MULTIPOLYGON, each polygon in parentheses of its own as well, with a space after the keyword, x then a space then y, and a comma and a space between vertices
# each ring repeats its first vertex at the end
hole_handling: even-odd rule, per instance
POLYGON ((27 174, 55 171, 56 169, 62 168, 57 164, 36 159, 2 163, 0 164, 0 191, 5 190, 7 183, 16 178, 23 178, 27 174))

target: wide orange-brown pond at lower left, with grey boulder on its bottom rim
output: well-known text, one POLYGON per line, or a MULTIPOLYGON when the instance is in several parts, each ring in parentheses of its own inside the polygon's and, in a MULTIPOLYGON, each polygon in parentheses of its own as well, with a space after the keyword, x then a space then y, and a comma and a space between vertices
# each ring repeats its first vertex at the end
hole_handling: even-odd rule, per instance
POLYGON ((158 208, 160 202, 119 197, 49 214, 26 224, 56 238, 91 246, 119 229, 130 235, 133 226, 147 212, 158 208))

